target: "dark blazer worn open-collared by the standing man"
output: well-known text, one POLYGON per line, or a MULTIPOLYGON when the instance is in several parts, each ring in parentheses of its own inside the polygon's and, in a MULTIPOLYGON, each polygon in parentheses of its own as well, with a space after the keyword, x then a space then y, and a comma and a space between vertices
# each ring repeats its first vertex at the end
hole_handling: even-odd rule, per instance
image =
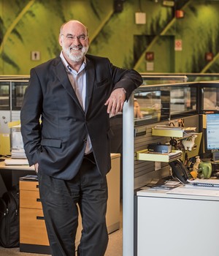
POLYGON ((96 164, 102 174, 110 168, 110 124, 104 103, 113 89, 126 89, 126 99, 142 78, 134 70, 113 66, 109 59, 86 56, 87 97, 82 110, 61 58, 31 69, 20 111, 21 132, 29 165, 39 172, 69 180, 80 168, 91 138, 96 164), (39 122, 42 120, 42 123, 39 122))

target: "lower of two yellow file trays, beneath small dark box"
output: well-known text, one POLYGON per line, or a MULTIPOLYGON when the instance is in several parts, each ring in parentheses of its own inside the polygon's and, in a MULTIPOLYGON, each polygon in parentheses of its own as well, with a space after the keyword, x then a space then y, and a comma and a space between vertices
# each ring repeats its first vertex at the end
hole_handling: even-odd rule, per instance
POLYGON ((150 152, 148 149, 137 151, 136 159, 143 161, 155 161, 155 162, 172 162, 175 159, 182 157, 182 151, 172 150, 171 153, 158 153, 150 152))

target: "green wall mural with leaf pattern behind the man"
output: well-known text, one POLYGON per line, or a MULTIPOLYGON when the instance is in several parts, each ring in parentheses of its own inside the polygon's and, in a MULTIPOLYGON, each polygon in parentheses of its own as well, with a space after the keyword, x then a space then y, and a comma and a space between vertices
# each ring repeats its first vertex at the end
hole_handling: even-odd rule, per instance
POLYGON ((116 12, 114 0, 0 0, 0 75, 28 75, 31 67, 58 56, 59 29, 70 19, 88 26, 89 53, 119 67, 218 72, 219 1, 176 0, 174 7, 163 0, 122 3, 116 12), (177 10, 183 17, 176 18, 177 10), (146 13, 145 24, 135 23, 135 12, 146 13), (148 52, 153 60, 145 59, 148 52))

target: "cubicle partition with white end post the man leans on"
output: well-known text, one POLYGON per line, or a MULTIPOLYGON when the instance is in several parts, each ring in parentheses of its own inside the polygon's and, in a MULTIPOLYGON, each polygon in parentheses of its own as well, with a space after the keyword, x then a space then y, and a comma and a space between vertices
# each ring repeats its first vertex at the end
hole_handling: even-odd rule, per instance
MULTIPOLYGON (((170 175, 168 162, 160 162, 159 158, 157 161, 137 160, 137 152, 147 148, 149 143, 167 143, 172 139, 171 133, 169 137, 153 135, 155 126, 196 127, 196 132, 204 132, 203 116, 219 113, 218 89, 217 81, 143 85, 124 105, 123 255, 137 255, 137 190, 153 178, 170 175), (207 105, 206 98, 210 99, 210 96, 212 105, 207 105), (139 102, 142 116, 136 116, 135 102, 139 102)), ((203 147, 200 146, 198 154, 205 154, 203 147)))

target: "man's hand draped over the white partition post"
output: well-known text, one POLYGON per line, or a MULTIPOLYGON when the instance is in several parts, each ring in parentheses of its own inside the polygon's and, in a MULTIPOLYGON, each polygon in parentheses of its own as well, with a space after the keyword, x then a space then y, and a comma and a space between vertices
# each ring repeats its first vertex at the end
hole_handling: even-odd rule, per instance
POLYGON ((110 98, 107 99, 105 105, 107 107, 107 113, 111 115, 116 115, 118 112, 123 110, 123 105, 126 100, 126 91, 123 88, 118 88, 112 91, 110 98))

